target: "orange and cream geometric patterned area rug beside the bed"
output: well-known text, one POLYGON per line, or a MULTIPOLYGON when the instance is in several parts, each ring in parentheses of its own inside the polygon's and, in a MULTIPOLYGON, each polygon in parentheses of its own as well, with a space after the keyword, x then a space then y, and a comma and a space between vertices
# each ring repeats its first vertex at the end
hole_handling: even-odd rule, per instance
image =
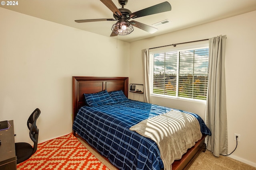
POLYGON ((38 144, 17 170, 109 170, 72 133, 38 144))

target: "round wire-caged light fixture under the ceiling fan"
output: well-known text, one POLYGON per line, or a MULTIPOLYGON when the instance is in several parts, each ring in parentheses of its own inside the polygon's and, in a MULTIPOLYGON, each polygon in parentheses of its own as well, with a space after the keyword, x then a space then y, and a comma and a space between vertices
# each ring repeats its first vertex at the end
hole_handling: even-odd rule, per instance
POLYGON ((116 22, 111 29, 117 35, 128 35, 134 30, 133 26, 128 22, 116 22))

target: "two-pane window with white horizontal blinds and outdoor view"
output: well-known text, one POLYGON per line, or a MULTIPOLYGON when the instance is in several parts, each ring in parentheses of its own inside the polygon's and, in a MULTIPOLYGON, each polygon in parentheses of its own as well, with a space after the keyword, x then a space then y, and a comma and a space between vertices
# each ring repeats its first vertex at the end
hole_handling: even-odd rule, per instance
POLYGON ((206 100, 209 49, 150 52, 150 94, 206 100))

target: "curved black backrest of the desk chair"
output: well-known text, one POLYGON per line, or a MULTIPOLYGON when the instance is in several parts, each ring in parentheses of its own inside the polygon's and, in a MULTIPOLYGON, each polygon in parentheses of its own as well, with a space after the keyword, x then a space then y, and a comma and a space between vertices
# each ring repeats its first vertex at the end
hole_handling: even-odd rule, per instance
POLYGON ((30 139, 34 142, 33 154, 36 152, 36 149, 37 149, 39 129, 36 126, 36 120, 38 119, 40 113, 41 113, 40 109, 36 108, 28 118, 28 122, 27 122, 30 139))

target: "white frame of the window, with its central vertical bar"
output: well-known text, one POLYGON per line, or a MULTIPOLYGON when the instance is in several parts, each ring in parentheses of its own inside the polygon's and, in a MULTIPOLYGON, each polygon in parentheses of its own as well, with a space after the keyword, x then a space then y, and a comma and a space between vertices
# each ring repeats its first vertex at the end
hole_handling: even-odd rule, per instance
MULTIPOLYGON (((158 96, 158 97, 164 97, 164 98, 172 98, 172 99, 177 99, 177 100, 186 100, 186 101, 194 101, 194 102, 200 102, 200 103, 206 103, 206 100, 200 100, 200 99, 193 99, 193 98, 186 98, 186 97, 180 97, 178 96, 178 86, 176 86, 176 96, 170 96, 166 94, 155 94, 153 93, 153 75, 154 75, 154 53, 164 53, 164 52, 171 52, 171 51, 184 51, 184 50, 192 50, 192 49, 201 49, 201 48, 209 48, 209 43, 208 41, 201 41, 201 42, 196 42, 190 45, 188 44, 182 44, 179 45, 179 47, 173 47, 173 46, 168 46, 168 47, 160 47, 156 49, 150 49, 150 96, 158 96)), ((177 85, 178 85, 178 70, 179 70, 179 57, 177 57, 177 85)))

